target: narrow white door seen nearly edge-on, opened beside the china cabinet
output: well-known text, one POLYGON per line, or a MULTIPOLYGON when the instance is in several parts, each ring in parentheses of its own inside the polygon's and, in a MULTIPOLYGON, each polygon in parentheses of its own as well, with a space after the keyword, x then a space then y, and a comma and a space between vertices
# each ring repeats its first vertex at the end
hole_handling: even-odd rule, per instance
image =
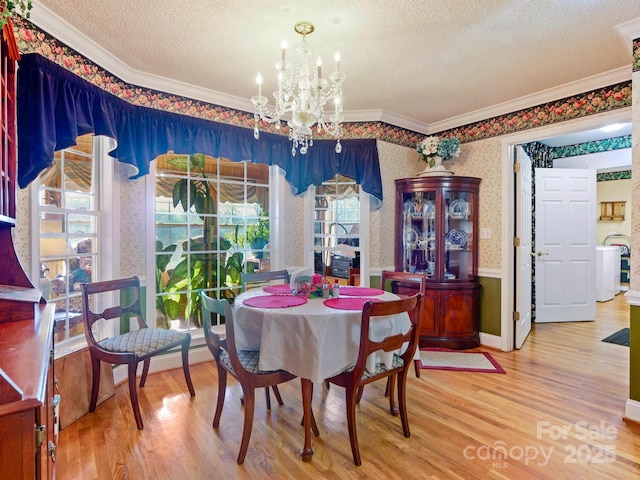
POLYGON ((519 319, 515 322, 515 348, 521 348, 531 331, 531 159, 522 147, 515 148, 516 163, 516 292, 515 310, 519 319), (517 170, 517 169, 516 169, 517 170))

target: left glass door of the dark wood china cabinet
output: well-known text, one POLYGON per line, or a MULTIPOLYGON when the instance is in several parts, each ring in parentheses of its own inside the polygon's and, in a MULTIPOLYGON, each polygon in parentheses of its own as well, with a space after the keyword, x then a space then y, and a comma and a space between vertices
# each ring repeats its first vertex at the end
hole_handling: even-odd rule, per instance
POLYGON ((436 265, 436 192, 402 194, 402 251, 405 272, 433 278, 436 265))

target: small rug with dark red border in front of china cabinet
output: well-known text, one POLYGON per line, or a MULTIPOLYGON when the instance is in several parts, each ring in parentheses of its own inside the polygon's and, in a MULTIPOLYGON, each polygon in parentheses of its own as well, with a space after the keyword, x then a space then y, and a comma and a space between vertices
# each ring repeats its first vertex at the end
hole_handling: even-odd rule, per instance
POLYGON ((442 348, 421 348, 420 367, 432 370, 507 373, 487 352, 461 352, 442 348))

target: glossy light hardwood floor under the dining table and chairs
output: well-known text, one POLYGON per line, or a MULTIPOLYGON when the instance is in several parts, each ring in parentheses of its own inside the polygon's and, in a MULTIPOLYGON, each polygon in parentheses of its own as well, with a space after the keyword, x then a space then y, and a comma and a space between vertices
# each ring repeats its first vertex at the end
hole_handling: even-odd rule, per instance
POLYGON ((229 381, 220 428, 213 363, 150 375, 138 431, 126 383, 115 397, 60 432, 58 479, 387 478, 627 479, 640 475, 640 425, 623 420, 629 348, 602 342, 629 326, 623 295, 598 304, 595 322, 536 325, 524 347, 490 351, 506 375, 422 370, 408 385, 411 437, 388 412, 385 382, 365 389, 357 412, 362 466, 353 464, 344 391, 316 385, 320 437, 304 463, 300 382, 283 385, 285 404, 256 401, 244 465, 239 385, 229 381))

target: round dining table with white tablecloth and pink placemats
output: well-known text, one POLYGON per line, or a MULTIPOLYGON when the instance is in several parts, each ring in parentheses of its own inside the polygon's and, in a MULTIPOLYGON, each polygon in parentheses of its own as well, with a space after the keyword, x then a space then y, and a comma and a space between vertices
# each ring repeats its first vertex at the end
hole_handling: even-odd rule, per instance
MULTIPOLYGON (((399 297, 368 287, 341 287, 338 298, 306 298, 291 295, 286 284, 248 290, 234 302, 236 346, 260 350, 261 370, 286 370, 300 377, 304 411, 304 448, 308 461, 311 448, 311 397, 313 382, 336 375, 358 358, 360 322, 366 301, 389 301, 399 297), (265 291, 266 290, 266 291, 265 291)), ((406 332, 406 313, 376 317, 370 324, 372 339, 406 332)), ((416 352, 417 353, 417 352, 416 352)), ((384 362, 389 366, 394 352, 376 352, 367 368, 384 362)))

